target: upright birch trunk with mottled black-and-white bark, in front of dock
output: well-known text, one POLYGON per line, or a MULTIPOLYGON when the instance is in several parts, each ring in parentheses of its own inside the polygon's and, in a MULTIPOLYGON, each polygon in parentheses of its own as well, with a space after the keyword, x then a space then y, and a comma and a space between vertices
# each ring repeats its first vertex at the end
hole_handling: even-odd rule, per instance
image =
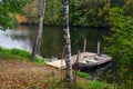
POLYGON ((63 38, 64 38, 64 58, 65 58, 65 79, 72 81, 72 65, 71 65, 71 41, 69 31, 69 0, 62 0, 63 4, 63 38))

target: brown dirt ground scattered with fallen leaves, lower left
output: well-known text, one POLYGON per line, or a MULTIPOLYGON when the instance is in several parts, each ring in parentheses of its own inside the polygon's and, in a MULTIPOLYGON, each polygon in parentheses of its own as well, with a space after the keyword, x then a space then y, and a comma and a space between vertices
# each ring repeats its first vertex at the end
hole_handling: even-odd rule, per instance
POLYGON ((0 89, 49 89, 51 79, 61 79, 60 70, 28 61, 0 59, 0 89))

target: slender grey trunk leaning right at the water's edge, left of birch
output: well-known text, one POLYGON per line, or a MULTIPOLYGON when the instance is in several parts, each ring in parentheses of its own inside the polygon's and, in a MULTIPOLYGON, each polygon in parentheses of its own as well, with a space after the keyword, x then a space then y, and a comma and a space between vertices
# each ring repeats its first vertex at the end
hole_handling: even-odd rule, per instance
POLYGON ((41 44, 41 36, 42 36, 42 29, 43 29, 43 18, 44 18, 44 3, 45 0, 40 0, 40 6, 39 6, 39 30, 37 32, 37 38, 35 42, 33 44, 32 53, 31 53, 31 61, 34 60, 34 57, 37 52, 40 50, 40 44, 41 44))

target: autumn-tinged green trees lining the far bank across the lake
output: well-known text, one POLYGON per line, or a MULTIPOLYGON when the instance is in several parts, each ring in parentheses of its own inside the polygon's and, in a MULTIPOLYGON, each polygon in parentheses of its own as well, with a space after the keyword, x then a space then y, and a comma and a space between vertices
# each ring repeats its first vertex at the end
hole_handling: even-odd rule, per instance
MULTIPOLYGON (((6 0, 3 0, 4 2, 6 0)), ((14 12, 23 12, 16 14, 18 23, 38 23, 38 3, 39 0, 33 0, 25 4, 27 0, 18 0, 17 4, 10 0, 7 4, 1 3, 0 22, 2 27, 10 26, 11 19, 14 19, 14 12), (18 4, 19 3, 19 4, 18 4), (24 8, 22 8, 25 4, 24 8), (9 8, 3 8, 4 6, 9 8), (21 11, 21 9, 22 11, 21 11), (4 10, 3 10, 4 9, 4 10), (13 12, 12 12, 13 10, 13 12), (10 16, 10 17, 9 17, 10 16), (7 18, 8 17, 8 18, 7 18), (6 21, 8 20, 8 22, 6 21)), ((133 0, 69 0, 70 6, 70 24, 82 27, 110 27, 109 10, 113 7, 121 7, 124 14, 133 17, 133 0), (110 7, 111 6, 111 7, 110 7)), ((45 18, 44 24, 61 26, 62 24, 62 1, 47 0, 45 1, 45 18)))

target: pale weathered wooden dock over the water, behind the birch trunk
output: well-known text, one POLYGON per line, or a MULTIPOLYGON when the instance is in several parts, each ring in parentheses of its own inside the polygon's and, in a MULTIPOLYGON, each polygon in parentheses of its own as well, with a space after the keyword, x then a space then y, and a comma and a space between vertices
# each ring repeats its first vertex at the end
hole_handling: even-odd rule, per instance
MULTIPOLYGON (((76 63, 76 59, 78 59, 78 55, 72 56, 71 63, 72 65, 76 63)), ((93 52, 81 52, 79 55, 78 63, 79 63, 79 67, 93 67, 93 66, 109 62, 111 60, 112 60, 112 58, 106 56, 106 55, 99 56, 98 53, 93 53, 93 52)), ((48 61, 47 65, 54 67, 54 68, 64 69, 65 68, 65 60, 60 59, 60 60, 54 60, 51 62, 48 61)))

